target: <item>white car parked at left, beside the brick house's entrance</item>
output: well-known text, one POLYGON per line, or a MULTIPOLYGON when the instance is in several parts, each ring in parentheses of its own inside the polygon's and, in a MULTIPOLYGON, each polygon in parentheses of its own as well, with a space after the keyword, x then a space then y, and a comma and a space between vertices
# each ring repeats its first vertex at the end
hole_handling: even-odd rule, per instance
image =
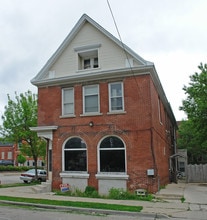
MULTIPOLYGON (((47 171, 46 170, 37 170, 37 180, 40 182, 45 182, 47 179, 47 171)), ((30 183, 35 180, 35 169, 30 169, 21 174, 20 180, 23 180, 25 183, 30 183)))

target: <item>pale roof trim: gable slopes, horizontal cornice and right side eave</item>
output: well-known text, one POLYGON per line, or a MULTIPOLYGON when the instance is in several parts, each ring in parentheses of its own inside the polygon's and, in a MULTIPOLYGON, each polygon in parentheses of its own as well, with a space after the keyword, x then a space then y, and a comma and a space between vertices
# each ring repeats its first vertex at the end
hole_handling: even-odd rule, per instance
MULTIPOLYGON (((76 23, 76 25, 73 27, 71 32, 68 34, 68 36, 65 38, 65 40, 62 42, 62 44, 59 46, 59 48, 55 51, 55 53, 51 56, 51 58, 47 61, 47 63, 43 66, 43 68, 40 70, 40 72, 31 80, 31 83, 36 86, 44 86, 44 85, 57 85, 58 83, 67 83, 67 78, 66 77, 61 77, 59 79, 45 79, 44 76, 48 74, 48 71, 52 67, 52 65, 57 61, 57 59, 61 56, 63 51, 67 48, 67 46, 72 42, 72 40, 76 37, 78 32, 81 30, 81 28, 85 25, 85 23, 88 22, 90 23, 94 28, 99 30, 103 35, 108 37, 112 42, 114 42, 116 45, 118 45, 121 49, 123 49, 127 54, 131 55, 135 61, 138 61, 141 63, 140 67, 135 67, 131 68, 132 70, 136 70, 136 72, 139 74, 143 74, 143 69, 144 69, 144 74, 150 74, 152 77, 153 82, 155 83, 155 86, 158 89, 158 93, 160 94, 160 97, 166 107, 167 112, 169 113, 170 118, 174 121, 174 124, 176 124, 175 116, 173 114, 173 111, 171 109, 170 103, 167 100, 167 97, 165 95, 165 92, 163 90, 163 87, 160 83, 158 74, 156 72, 156 69, 154 67, 154 63, 147 61, 140 57, 137 53, 135 53, 132 49, 130 49, 127 45, 125 45, 123 42, 118 40, 115 36, 113 36, 110 32, 105 30, 101 25, 99 25, 97 22, 95 22, 92 18, 90 18, 87 14, 83 14, 82 17, 79 19, 79 21, 76 23)), ((110 70, 110 71, 105 71, 105 72, 100 72, 98 77, 101 79, 103 75, 105 77, 114 77, 114 74, 108 74, 108 73, 115 73, 116 76, 117 70, 110 70)), ((126 74, 126 72, 129 72, 129 69, 119 69, 119 76, 122 74, 126 74)), ((134 72, 131 71, 132 75, 134 75, 134 72)), ((75 75, 75 76, 70 76, 70 81, 75 82, 82 80, 84 77, 87 77, 88 80, 94 80, 96 75, 94 73, 90 74, 81 74, 81 76, 75 75)))

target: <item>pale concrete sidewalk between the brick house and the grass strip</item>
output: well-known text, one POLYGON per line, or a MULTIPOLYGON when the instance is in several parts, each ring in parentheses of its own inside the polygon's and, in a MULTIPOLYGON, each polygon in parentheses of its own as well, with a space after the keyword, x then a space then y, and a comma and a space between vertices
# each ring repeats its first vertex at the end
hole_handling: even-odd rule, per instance
MULTIPOLYGON (((13 187, 13 188, 0 188, 0 195, 5 196, 16 196, 23 198, 38 198, 38 199, 49 199, 49 200, 62 200, 62 201, 81 201, 81 202, 94 202, 94 203, 108 203, 108 204, 121 204, 121 205, 132 205, 142 206, 143 210, 139 215, 160 215, 163 216, 178 216, 178 213, 185 213, 189 210, 188 203, 181 203, 180 199, 168 200, 168 195, 179 195, 183 197, 185 184, 169 184, 165 189, 162 189, 158 195, 165 195, 167 200, 160 200, 154 202, 147 201, 135 201, 135 200, 108 200, 108 199, 95 199, 95 198, 82 198, 82 197, 67 197, 57 196, 53 193, 38 193, 35 194, 31 190, 31 186, 26 187, 13 187)), ((91 212, 91 210, 90 210, 91 212)))

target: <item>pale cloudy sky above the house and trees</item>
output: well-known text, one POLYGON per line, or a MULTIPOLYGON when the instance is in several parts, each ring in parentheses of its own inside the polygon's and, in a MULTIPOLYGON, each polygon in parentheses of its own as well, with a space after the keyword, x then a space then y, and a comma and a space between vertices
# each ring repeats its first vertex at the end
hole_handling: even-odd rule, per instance
MULTIPOLYGON (((206 63, 206 0, 108 0, 122 41, 155 64, 177 120, 189 76, 206 63)), ((0 0, 0 115, 7 94, 37 88, 30 80, 82 14, 118 37, 107 0, 0 0)))

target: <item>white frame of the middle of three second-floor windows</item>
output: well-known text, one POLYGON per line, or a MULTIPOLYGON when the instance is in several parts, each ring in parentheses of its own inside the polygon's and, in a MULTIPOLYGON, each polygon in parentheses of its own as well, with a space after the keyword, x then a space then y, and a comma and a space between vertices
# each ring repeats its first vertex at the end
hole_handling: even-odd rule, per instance
POLYGON ((100 91, 99 91, 99 85, 89 85, 89 86, 83 86, 83 114, 99 114, 100 113, 100 91), (97 93, 91 93, 90 95, 86 95, 86 89, 87 88, 92 88, 92 87, 97 87, 97 93), (85 105, 86 105, 86 96, 97 96, 97 111, 91 111, 88 112, 86 111, 85 105))

